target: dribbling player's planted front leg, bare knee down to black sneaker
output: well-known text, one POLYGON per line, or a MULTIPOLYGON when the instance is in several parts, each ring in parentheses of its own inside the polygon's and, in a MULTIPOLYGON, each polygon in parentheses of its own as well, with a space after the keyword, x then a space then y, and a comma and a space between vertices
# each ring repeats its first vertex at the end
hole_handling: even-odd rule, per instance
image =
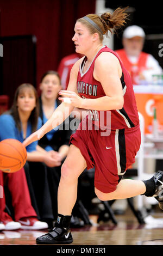
POLYGON ((58 188, 58 218, 53 230, 36 239, 36 243, 56 244, 73 242, 70 232, 71 212, 77 200, 78 177, 86 168, 80 150, 70 145, 68 155, 61 168, 58 188))

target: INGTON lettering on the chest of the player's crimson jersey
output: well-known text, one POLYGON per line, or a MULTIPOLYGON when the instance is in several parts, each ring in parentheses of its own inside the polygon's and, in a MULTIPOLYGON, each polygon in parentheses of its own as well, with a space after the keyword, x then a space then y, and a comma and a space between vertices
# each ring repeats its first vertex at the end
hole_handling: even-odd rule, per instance
POLYGON ((86 95, 97 96, 97 85, 89 84, 85 82, 78 82, 78 93, 84 93, 86 95))

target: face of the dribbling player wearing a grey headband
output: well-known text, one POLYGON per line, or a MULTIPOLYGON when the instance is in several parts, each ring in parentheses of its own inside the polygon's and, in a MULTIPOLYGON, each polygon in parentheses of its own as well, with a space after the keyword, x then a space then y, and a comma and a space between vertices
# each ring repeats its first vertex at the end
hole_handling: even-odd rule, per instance
POLYGON ((74 36, 72 40, 76 45, 76 52, 86 54, 92 47, 92 38, 89 30, 82 23, 77 22, 74 27, 74 36))

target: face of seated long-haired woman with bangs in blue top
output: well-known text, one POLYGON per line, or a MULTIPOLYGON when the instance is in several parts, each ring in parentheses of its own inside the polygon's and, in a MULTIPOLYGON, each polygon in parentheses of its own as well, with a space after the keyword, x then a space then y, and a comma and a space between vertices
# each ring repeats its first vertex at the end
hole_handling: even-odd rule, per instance
POLYGON ((20 90, 17 97, 17 108, 21 112, 32 112, 36 106, 35 93, 30 88, 23 88, 20 90))

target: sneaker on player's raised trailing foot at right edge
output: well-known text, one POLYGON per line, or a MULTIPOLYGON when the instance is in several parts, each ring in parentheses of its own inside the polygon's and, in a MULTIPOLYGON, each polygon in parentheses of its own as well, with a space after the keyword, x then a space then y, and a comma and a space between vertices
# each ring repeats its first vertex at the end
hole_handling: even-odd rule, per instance
POLYGON ((155 193, 153 197, 158 200, 159 207, 163 210, 163 172, 158 170, 156 174, 153 176, 155 182, 155 193))

